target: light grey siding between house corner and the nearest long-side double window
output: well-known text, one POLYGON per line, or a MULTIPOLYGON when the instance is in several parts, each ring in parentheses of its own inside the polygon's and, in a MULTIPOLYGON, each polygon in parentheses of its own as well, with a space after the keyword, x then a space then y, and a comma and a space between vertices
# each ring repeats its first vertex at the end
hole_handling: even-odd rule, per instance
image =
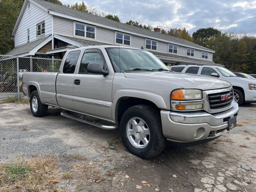
POLYGON ((53 33, 74 36, 74 21, 53 16, 53 33))

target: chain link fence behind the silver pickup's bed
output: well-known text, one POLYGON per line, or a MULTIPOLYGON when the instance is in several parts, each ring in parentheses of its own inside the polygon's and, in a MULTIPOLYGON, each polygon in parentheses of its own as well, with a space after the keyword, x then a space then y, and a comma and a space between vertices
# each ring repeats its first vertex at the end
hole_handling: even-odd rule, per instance
POLYGON ((0 99, 22 92, 23 72, 59 72, 61 60, 0 55, 0 99))

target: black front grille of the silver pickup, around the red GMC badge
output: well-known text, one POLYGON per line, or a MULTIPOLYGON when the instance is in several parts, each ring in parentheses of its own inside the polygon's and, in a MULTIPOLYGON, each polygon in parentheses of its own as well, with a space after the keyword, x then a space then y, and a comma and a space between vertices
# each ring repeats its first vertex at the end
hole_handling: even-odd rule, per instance
POLYGON ((209 105, 211 109, 226 108, 231 105, 234 97, 233 90, 219 93, 208 94, 209 105), (221 96, 230 94, 229 99, 221 100, 221 96))

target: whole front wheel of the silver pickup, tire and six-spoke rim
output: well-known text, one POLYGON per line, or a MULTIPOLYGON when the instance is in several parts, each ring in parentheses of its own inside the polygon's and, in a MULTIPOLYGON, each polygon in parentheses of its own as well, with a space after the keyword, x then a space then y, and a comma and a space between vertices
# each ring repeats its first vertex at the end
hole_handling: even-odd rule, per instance
POLYGON ((141 158, 157 156, 166 144, 160 114, 147 105, 136 105, 124 112, 120 133, 126 149, 141 158))

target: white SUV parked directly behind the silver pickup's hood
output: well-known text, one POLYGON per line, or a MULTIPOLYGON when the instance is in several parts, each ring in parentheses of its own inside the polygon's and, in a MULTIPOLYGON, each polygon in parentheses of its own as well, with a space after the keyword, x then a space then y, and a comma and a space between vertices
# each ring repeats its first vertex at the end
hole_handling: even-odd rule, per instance
POLYGON ((172 71, 214 76, 230 82, 234 88, 234 99, 241 105, 256 102, 256 80, 237 77, 226 68, 208 65, 172 66, 172 71))

